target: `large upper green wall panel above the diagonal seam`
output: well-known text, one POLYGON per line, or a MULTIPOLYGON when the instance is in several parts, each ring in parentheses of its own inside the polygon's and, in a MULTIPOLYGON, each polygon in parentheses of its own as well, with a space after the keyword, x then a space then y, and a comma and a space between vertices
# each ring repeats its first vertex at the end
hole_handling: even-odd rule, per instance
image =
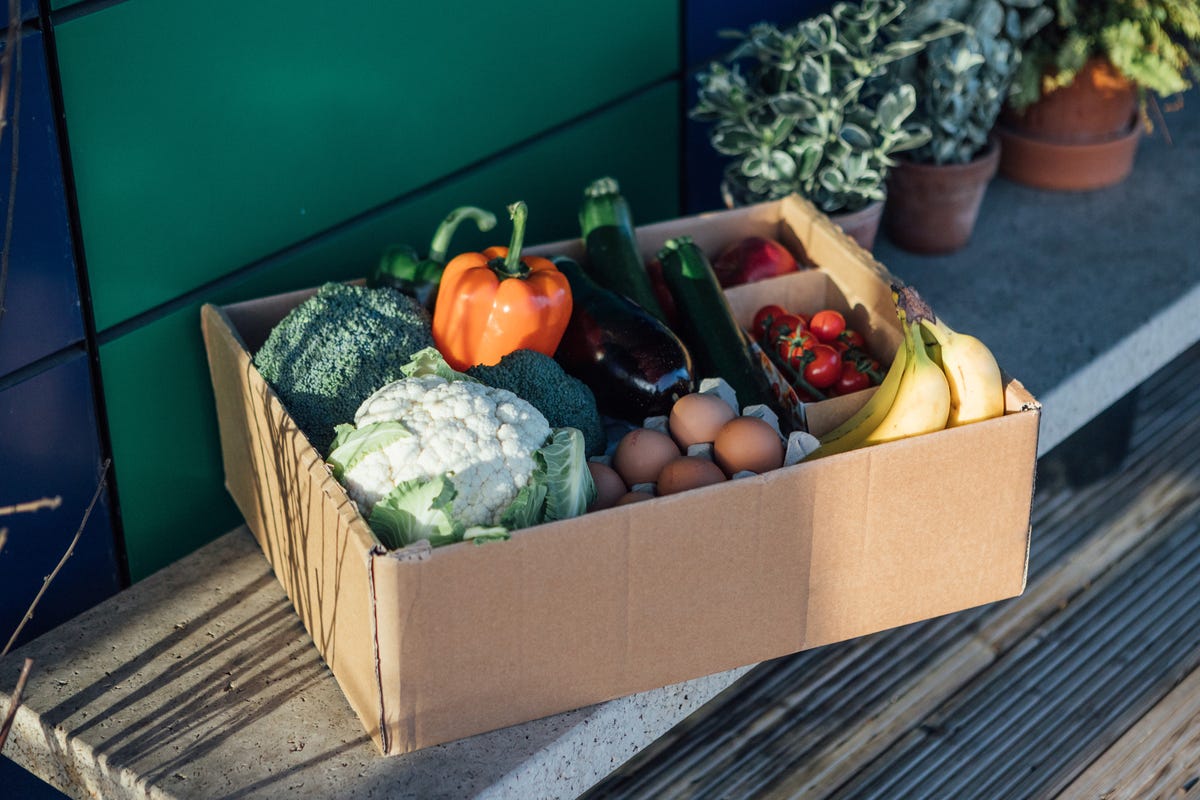
POLYGON ((59 25, 97 327, 670 77, 677 28, 673 0, 130 0, 59 25))

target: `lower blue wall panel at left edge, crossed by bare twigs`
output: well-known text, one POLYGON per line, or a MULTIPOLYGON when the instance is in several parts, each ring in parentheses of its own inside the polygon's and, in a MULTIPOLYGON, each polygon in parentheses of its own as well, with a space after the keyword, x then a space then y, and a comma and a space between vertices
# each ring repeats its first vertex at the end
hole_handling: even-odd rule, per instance
MULTIPOLYGON (((79 529, 100 477, 88 359, 65 362, 0 391, 0 506, 61 497, 53 510, 0 517, 0 634, 7 640, 79 529)), ((25 626, 22 642, 113 595, 120 587, 109 501, 96 504, 62 571, 25 626)), ((2 646, 2 645, 0 645, 2 646)))

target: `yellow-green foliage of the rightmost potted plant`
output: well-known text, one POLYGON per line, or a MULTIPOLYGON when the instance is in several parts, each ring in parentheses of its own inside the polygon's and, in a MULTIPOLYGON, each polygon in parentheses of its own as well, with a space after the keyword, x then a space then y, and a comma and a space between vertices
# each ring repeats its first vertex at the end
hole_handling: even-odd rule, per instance
POLYGON ((1175 95, 1200 82, 1195 0, 1054 0, 1054 22, 1025 49, 1012 106, 1022 110, 1069 85, 1093 58, 1108 59, 1146 94, 1175 95))

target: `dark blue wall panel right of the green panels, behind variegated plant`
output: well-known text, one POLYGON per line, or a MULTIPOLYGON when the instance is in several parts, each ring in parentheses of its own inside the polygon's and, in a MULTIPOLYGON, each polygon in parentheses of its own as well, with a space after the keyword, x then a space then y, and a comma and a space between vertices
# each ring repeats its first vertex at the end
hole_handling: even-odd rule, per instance
MULTIPOLYGON (((721 58, 733 44, 733 40, 720 36, 720 31, 745 31, 760 22, 791 25, 832 6, 829 0, 749 0, 738 4, 689 0, 684 11, 684 64, 689 65, 686 108, 696 104, 696 73, 713 59, 721 58)), ((697 213, 721 207, 720 184, 725 161, 708 144, 707 122, 685 122, 683 151, 684 211, 697 213)))

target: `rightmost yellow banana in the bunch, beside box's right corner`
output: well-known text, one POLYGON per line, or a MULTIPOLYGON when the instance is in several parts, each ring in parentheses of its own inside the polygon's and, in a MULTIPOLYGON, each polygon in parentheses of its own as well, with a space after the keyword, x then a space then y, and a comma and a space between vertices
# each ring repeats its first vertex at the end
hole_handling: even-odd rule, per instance
POLYGON ((948 427, 990 420, 1004 413, 1004 380, 996 357, 983 342, 959 333, 934 318, 922 325, 941 351, 941 366, 950 389, 948 427))

